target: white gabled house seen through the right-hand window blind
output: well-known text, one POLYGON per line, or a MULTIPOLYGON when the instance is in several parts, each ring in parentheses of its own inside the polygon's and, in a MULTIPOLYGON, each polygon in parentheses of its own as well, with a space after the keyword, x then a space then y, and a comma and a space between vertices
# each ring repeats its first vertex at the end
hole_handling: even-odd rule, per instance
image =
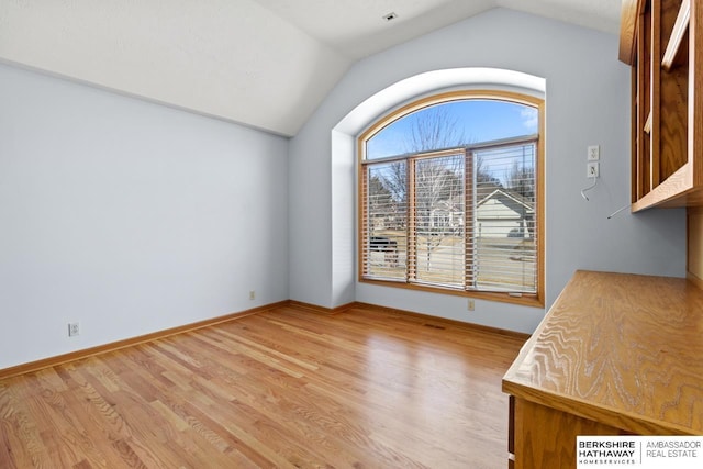
POLYGON ((533 202, 509 189, 495 189, 477 204, 477 230, 484 237, 532 237, 533 202))

